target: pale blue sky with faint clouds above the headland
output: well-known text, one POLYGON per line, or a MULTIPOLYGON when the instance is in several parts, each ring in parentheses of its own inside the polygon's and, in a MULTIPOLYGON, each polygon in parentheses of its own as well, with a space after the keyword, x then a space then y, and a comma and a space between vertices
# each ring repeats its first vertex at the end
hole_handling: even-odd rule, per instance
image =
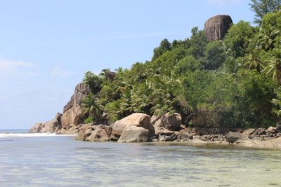
POLYGON ((253 22, 248 0, 0 0, 0 129, 62 112, 85 71, 129 68, 214 15, 253 22))

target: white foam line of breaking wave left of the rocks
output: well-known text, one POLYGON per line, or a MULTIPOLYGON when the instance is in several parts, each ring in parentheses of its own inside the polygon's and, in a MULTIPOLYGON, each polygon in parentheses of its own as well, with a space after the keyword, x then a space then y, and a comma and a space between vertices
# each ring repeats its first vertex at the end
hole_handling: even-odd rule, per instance
POLYGON ((0 138, 11 137, 75 137, 77 134, 55 134, 55 133, 0 133, 0 138))

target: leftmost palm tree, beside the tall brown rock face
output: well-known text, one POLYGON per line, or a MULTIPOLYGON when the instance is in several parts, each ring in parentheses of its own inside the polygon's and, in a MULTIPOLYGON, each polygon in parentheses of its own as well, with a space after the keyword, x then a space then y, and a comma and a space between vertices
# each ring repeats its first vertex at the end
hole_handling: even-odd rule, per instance
POLYGON ((93 123, 100 124, 104 120, 103 106, 98 103, 93 93, 89 93, 81 103, 82 113, 89 114, 93 118, 93 123))

